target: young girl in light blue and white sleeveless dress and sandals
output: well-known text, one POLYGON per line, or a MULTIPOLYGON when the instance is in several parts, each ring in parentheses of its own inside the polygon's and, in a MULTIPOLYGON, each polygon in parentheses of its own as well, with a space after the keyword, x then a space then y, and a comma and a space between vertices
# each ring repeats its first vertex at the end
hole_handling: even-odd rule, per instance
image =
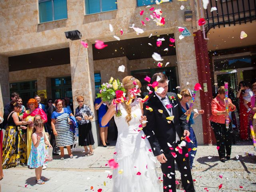
POLYGON ((45 145, 52 147, 46 140, 43 134, 44 122, 37 120, 34 122, 33 134, 32 134, 32 148, 28 158, 28 166, 30 168, 36 168, 36 183, 44 184, 44 181, 48 179, 42 176, 42 166, 45 158, 45 145))

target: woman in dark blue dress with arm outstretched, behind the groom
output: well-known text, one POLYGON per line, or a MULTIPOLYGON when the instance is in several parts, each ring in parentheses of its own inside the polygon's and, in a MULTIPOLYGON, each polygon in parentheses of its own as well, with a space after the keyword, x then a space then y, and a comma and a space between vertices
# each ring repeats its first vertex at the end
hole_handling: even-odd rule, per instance
MULTIPOLYGON (((180 92, 180 95, 182 96, 181 100, 180 100, 180 104, 182 106, 182 112, 184 112, 185 115, 190 114, 190 118, 188 121, 188 126, 189 126, 189 132, 190 132, 190 140, 191 142, 186 142, 187 143, 187 147, 188 148, 197 148, 197 141, 196 141, 196 134, 194 133, 194 130, 192 128, 192 124, 194 124, 194 118, 196 118, 199 114, 204 114, 204 110, 199 110, 198 113, 195 113, 191 111, 191 109, 189 109, 189 104, 188 102, 190 102, 192 96, 190 94, 190 92, 187 89, 183 89, 180 92)), ((196 156, 196 150, 190 150, 188 152, 188 156, 189 156, 189 161, 190 161, 190 169, 192 169, 192 167, 195 167, 194 164, 194 158, 196 156)))

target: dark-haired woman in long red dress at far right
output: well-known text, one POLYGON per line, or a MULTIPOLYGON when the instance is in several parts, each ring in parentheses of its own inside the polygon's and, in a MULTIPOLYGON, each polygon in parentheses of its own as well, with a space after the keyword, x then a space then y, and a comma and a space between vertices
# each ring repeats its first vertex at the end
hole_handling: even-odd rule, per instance
MULTIPOLYGON (((236 97, 239 98, 239 120, 240 120, 240 137, 242 140, 248 140, 248 116, 247 109, 244 106, 243 94, 244 90, 248 89, 249 86, 244 81, 239 83, 240 90, 236 94, 236 97)), ((251 106, 251 103, 248 103, 248 106, 251 106)))

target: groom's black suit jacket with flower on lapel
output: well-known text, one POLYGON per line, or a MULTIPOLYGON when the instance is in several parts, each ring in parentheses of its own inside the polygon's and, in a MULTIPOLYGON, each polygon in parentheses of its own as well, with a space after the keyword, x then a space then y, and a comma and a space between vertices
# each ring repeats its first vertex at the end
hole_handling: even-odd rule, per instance
POLYGON ((176 132, 181 139, 184 130, 189 130, 186 116, 182 112, 178 96, 172 92, 168 92, 167 96, 168 98, 169 96, 176 98, 174 103, 170 101, 170 104, 172 104, 174 123, 168 123, 166 117, 168 117, 169 114, 155 94, 149 98, 148 102, 144 103, 144 115, 146 115, 148 123, 147 126, 143 128, 143 131, 147 135, 155 156, 162 153, 170 153, 170 146, 168 146, 167 143, 170 143, 170 145, 175 148, 176 132), (146 109, 147 107, 151 107, 153 111, 150 112, 150 110, 146 109), (162 110, 163 113, 160 113, 158 111, 159 109, 162 110))

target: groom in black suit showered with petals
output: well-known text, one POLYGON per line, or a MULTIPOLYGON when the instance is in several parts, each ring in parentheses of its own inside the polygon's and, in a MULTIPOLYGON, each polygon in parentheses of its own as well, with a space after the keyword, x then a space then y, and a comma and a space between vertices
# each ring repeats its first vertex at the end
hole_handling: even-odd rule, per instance
POLYGON ((163 92, 154 92, 148 102, 144 103, 144 115, 148 123, 143 131, 147 135, 154 155, 161 163, 164 192, 176 192, 174 160, 180 170, 184 190, 194 192, 188 149, 180 145, 181 138, 190 135, 186 116, 182 112, 178 96, 168 92, 167 76, 163 73, 156 73, 152 77, 152 82, 155 82, 157 78, 158 88, 162 87, 163 92), (166 107, 168 104, 172 107, 166 107), (170 120, 172 118, 166 119, 170 116, 174 116, 173 120, 170 120))

